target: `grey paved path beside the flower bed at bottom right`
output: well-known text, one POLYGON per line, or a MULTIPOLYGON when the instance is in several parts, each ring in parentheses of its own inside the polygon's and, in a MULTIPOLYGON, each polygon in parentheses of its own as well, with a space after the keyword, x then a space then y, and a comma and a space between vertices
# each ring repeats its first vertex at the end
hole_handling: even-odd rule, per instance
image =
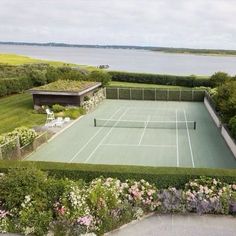
POLYGON ((236 236, 236 217, 153 215, 108 233, 109 236, 236 236))

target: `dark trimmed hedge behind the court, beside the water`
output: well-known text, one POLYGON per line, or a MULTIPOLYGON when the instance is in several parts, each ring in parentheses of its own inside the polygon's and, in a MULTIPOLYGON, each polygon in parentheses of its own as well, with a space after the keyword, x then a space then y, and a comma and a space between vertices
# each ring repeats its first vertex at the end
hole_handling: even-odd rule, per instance
POLYGON ((212 87, 213 85, 210 78, 198 78, 196 76, 161 75, 117 71, 110 71, 108 73, 112 76, 113 81, 120 82, 176 85, 184 87, 212 87))

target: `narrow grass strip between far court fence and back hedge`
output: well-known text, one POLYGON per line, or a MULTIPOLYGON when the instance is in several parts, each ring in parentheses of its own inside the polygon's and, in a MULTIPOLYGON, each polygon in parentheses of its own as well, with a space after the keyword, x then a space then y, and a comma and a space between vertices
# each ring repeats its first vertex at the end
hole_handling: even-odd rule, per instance
POLYGON ((192 88, 181 87, 181 86, 170 86, 170 85, 159 85, 159 84, 143 84, 143 83, 130 83, 130 82, 118 82, 118 81, 111 81, 108 87, 192 89, 192 88))

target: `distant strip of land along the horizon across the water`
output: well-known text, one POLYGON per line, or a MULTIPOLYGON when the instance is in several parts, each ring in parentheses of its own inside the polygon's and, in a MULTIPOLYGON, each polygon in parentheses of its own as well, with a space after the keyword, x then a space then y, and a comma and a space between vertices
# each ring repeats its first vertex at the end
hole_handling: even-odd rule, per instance
POLYGON ((0 45, 19 46, 45 46, 45 47, 75 47, 75 48, 103 48, 103 49, 136 49, 153 52, 192 54, 203 56, 236 56, 236 50, 224 49, 192 49, 192 48, 171 48, 171 47, 150 47, 132 45, 86 45, 86 44, 66 44, 66 43, 26 43, 26 42, 0 42, 0 45))

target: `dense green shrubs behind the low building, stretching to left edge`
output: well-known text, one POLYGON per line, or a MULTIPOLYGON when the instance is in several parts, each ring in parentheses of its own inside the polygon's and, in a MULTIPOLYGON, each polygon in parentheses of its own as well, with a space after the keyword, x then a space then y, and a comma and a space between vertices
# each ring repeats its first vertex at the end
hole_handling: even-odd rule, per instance
POLYGON ((70 66, 53 67, 50 64, 8 65, 0 64, 0 97, 20 93, 33 86, 41 86, 56 80, 106 81, 107 75, 98 73, 91 78, 87 72, 70 66))

